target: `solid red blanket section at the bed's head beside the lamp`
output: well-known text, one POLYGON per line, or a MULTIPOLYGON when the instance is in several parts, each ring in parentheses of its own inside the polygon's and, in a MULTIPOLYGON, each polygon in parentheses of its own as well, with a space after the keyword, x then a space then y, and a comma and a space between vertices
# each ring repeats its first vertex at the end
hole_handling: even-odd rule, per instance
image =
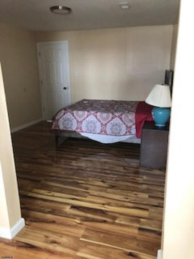
POLYGON ((141 138, 141 132, 144 122, 152 121, 152 109, 154 107, 145 103, 139 102, 135 111, 135 128, 136 128, 136 137, 141 138))

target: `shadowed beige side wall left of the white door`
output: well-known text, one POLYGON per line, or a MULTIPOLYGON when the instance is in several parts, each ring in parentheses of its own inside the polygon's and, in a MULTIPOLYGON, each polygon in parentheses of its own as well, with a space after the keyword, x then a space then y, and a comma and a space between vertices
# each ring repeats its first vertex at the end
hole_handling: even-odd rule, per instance
POLYGON ((0 61, 11 128, 42 117, 35 33, 0 22, 0 61))

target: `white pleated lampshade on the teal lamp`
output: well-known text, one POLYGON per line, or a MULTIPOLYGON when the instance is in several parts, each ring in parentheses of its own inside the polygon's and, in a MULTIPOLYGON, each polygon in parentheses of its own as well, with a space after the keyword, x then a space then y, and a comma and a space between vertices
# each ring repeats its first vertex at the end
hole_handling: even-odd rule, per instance
POLYGON ((168 85, 155 85, 146 98, 146 103, 157 107, 170 107, 170 87, 168 85))

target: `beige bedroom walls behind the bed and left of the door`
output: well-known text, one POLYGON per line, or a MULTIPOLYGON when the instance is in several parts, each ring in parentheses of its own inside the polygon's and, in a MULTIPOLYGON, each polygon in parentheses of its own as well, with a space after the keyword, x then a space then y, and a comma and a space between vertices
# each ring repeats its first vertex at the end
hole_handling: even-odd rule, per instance
POLYGON ((144 100, 170 68, 174 31, 165 25, 35 34, 0 23, 11 128, 42 117, 36 42, 68 40, 72 103, 83 98, 144 100))

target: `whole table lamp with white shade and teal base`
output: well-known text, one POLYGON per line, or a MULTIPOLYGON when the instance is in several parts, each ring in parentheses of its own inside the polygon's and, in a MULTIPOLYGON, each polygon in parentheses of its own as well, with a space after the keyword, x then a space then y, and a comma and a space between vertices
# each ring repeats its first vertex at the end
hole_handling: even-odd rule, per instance
POLYGON ((164 127, 170 116, 170 87, 168 85, 156 84, 146 98, 146 103, 156 106, 152 109, 155 125, 164 127))

